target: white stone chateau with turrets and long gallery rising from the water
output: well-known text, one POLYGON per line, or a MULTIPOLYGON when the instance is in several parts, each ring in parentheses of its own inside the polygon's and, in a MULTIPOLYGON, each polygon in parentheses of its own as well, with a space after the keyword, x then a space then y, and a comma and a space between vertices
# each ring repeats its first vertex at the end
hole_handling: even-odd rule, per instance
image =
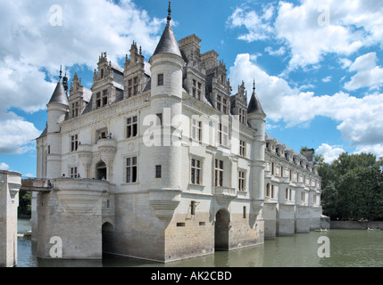
POLYGON ((237 93, 215 51, 178 42, 171 8, 154 54, 133 43, 124 67, 102 53, 91 90, 62 77, 37 138, 37 256, 104 253, 160 262, 319 229, 321 178, 265 133, 255 84, 237 93))

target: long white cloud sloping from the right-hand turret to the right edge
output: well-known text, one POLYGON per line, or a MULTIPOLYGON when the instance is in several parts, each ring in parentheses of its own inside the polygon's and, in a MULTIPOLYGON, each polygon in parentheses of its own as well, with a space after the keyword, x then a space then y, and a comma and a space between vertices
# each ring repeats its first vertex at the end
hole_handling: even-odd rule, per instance
POLYGON ((323 116, 338 123, 343 140, 353 147, 374 147, 383 142, 383 94, 358 98, 344 92, 332 95, 301 92, 285 79, 260 69, 247 53, 237 55, 229 72, 232 85, 244 80, 247 90, 251 90, 255 78, 262 108, 275 123, 283 121, 287 127, 307 126, 316 116, 323 116))

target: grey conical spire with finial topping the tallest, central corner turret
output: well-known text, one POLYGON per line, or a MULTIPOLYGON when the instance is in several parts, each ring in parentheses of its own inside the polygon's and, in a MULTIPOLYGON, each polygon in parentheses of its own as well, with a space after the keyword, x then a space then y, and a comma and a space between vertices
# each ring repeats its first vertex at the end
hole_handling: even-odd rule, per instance
POLYGON ((163 30, 162 37, 155 48, 153 55, 158 53, 172 53, 182 57, 181 52, 179 51, 179 44, 177 43, 173 29, 171 28, 171 1, 169 1, 168 23, 163 30))

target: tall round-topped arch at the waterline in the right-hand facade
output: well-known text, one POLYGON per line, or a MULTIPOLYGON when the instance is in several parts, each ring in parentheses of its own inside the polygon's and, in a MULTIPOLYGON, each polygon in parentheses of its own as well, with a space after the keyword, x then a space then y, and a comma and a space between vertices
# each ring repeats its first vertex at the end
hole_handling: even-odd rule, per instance
POLYGON ((215 250, 229 250, 230 213, 226 208, 221 208, 215 214, 214 223, 214 248, 215 250))

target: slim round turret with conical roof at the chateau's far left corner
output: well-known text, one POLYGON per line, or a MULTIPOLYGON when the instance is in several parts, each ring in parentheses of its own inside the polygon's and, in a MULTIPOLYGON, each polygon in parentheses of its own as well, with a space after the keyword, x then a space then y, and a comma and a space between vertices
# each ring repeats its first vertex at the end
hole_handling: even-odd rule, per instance
POLYGON ((47 144, 48 156, 46 165, 46 178, 54 179, 61 176, 62 143, 60 123, 65 119, 69 109, 68 97, 62 83, 62 70, 60 78, 54 89, 51 100, 46 105, 48 112, 47 144))

